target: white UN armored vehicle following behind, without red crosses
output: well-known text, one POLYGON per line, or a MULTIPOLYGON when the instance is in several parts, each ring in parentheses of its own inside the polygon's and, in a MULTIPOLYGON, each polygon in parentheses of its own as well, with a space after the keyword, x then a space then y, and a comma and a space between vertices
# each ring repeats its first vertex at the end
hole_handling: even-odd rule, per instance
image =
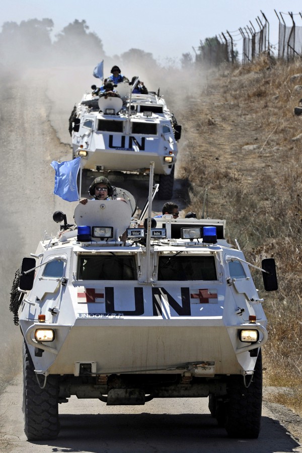
POLYGON ((96 172, 148 180, 154 161, 158 197, 171 199, 181 126, 159 93, 133 94, 133 86, 118 84, 120 97, 99 97, 96 90, 84 95, 69 118, 72 156, 83 158, 87 187, 99 176, 96 172))

